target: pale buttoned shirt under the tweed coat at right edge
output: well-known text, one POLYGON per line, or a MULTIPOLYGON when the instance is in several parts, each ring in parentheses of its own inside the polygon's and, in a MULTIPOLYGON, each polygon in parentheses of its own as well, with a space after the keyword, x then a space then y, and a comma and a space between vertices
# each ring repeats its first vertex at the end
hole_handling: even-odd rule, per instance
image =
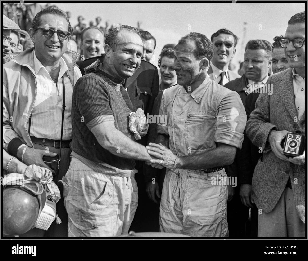
POLYGON ((302 76, 298 75, 295 72, 295 68, 293 68, 292 73, 293 73, 292 77, 293 77, 293 91, 295 96, 295 107, 299 121, 305 111, 306 80, 305 78, 302 78, 302 76))

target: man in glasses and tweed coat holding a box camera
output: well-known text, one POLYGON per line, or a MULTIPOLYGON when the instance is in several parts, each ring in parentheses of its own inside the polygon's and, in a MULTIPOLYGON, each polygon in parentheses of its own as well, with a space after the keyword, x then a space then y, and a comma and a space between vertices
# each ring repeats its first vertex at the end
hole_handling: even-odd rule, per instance
MULTIPOLYGON (((291 68, 271 75, 273 94, 260 93, 246 132, 263 152, 253 173, 252 197, 258 207, 258 237, 305 236, 305 152, 290 157, 289 133, 305 142, 305 23, 306 13, 291 17, 280 40, 291 68)), ((295 144, 296 145, 296 144, 295 144)))

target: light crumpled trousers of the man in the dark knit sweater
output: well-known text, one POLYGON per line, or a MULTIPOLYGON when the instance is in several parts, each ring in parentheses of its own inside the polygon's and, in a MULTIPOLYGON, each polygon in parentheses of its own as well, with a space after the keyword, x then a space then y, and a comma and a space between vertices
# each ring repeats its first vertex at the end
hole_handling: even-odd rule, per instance
POLYGON ((134 177, 104 175, 72 157, 63 181, 69 237, 128 234, 138 205, 134 177))

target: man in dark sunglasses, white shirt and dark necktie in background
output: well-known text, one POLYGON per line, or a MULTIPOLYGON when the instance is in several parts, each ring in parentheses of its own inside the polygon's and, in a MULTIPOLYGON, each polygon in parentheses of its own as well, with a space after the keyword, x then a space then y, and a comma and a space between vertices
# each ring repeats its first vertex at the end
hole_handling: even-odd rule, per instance
POLYGON ((237 40, 237 36, 226 28, 219 29, 211 36, 214 50, 211 66, 207 73, 211 80, 218 82, 222 86, 241 77, 236 72, 229 70, 229 63, 236 51, 237 40))

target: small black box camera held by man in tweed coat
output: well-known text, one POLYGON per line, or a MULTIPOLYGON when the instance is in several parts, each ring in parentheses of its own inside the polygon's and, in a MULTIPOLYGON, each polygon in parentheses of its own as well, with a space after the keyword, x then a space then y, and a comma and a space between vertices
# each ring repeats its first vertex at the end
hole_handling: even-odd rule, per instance
POLYGON ((305 136, 288 132, 286 137, 281 142, 283 154, 288 157, 300 156, 305 150, 305 136))

